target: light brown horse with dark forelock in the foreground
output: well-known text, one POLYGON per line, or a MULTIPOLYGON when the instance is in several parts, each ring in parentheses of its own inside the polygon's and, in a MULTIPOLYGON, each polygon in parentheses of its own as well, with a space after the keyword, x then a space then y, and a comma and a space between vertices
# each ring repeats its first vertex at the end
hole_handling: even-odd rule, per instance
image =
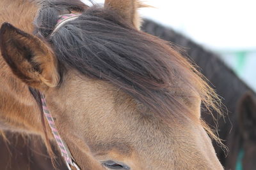
POLYGON ((56 139, 76 169, 223 169, 200 118, 218 97, 140 31, 140 1, 0 4, 1 127, 56 139))

